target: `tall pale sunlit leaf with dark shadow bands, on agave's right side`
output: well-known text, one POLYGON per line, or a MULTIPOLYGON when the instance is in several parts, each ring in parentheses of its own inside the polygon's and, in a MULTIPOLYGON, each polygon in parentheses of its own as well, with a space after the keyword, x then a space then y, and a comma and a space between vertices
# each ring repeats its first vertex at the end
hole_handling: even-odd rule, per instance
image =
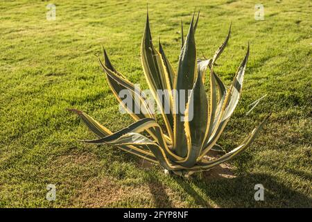
POLYGON ((203 157, 212 146, 216 143, 218 138, 220 137, 221 133, 223 132, 223 129, 225 128, 227 122, 229 121, 229 117, 234 112, 234 109, 236 108, 237 103, 239 102, 239 96, 241 94, 241 87, 243 85, 243 76, 245 74, 245 67, 248 62, 248 56, 249 56, 249 44, 247 53, 245 55, 245 58, 241 62, 241 65, 239 66, 239 69, 236 72, 236 75, 234 76, 234 80, 232 82, 231 87, 229 87, 229 90, 227 92, 225 101, 223 103, 223 108, 220 113, 220 117, 218 119, 218 123, 216 123, 216 130, 212 132, 211 137, 209 137, 207 144, 205 148, 202 150, 202 153, 200 155, 200 158, 203 157))

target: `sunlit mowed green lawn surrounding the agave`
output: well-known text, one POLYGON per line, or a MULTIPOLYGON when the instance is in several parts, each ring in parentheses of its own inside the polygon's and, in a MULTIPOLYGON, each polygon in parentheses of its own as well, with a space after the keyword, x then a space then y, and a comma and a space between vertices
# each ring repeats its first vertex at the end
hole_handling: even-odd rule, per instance
MULTIPOLYGON (((216 72, 229 85, 250 42, 243 94, 219 144, 227 151, 272 112, 261 135, 230 162, 234 176, 168 176, 94 138, 66 108, 90 114, 113 131, 132 123, 119 113, 94 54, 104 45, 122 74, 146 88, 140 44, 146 1, 1 1, 0 207, 312 207, 311 3, 148 1, 150 26, 177 66, 184 29, 201 9, 198 56, 232 37, 216 72), (46 20, 55 3, 56 20, 46 20), (267 94, 245 116, 248 105, 267 94), (46 200, 46 186, 56 200, 46 200), (265 188, 254 200, 254 185, 265 188)), ((207 90, 208 85, 207 85, 207 90)))

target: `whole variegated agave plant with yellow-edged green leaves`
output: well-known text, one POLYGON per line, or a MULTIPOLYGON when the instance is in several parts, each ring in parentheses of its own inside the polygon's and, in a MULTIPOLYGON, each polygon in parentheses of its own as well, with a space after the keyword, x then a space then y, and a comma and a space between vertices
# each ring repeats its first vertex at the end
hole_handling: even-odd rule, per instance
POLYGON ((229 89, 226 89, 223 81, 214 72, 214 66, 227 45, 231 26, 225 42, 218 47, 213 58, 209 60, 197 59, 194 35, 199 14, 198 12, 196 21, 193 15, 185 41, 182 26, 182 46, 177 71, 173 69, 166 58, 160 41, 159 51, 155 49, 150 33, 148 15, 146 18, 146 26, 141 42, 141 63, 148 87, 159 110, 161 110, 164 124, 157 122, 156 114, 150 110, 144 92, 135 89, 133 83, 130 83, 129 80, 116 71, 104 49, 104 62, 101 61, 101 58, 98 58, 98 61, 107 76, 108 83, 116 99, 121 105, 124 105, 125 110, 135 120, 135 123, 112 133, 85 112, 71 109, 71 111, 79 115, 89 130, 99 137, 95 140, 85 140, 85 142, 117 146, 123 151, 159 164, 164 169, 180 176, 190 176, 198 171, 207 171, 218 164, 231 160, 252 144, 268 118, 257 128, 254 128, 240 146, 229 153, 224 152, 224 155, 214 160, 207 158, 207 154, 211 150, 223 152, 223 148, 216 142, 239 102, 250 48, 248 44, 247 53, 234 76, 232 85, 230 85, 229 89), (209 73, 209 100, 205 91, 206 71, 209 73), (127 108, 119 98, 119 92, 124 89, 131 93, 133 103, 139 109, 139 112, 135 113, 127 108), (165 99, 160 99, 157 90, 164 89, 168 89, 166 91, 168 94, 165 99), (177 92, 190 90, 191 94, 183 97, 178 93, 174 94, 172 89, 177 92), (135 96, 138 96, 139 101, 135 99, 135 96), (175 112, 181 103, 185 104, 184 112, 175 112), (169 105, 169 112, 164 112, 165 105, 169 105), (191 109, 193 118, 188 119, 191 109))

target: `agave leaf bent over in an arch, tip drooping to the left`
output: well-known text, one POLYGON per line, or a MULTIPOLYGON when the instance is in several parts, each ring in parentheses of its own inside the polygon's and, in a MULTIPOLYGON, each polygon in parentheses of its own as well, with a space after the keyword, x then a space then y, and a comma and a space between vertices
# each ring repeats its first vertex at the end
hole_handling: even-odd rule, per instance
POLYGON ((155 133, 150 133, 150 136, 153 137, 155 142, 157 142, 157 144, 159 144, 159 146, 164 150, 166 156, 173 161, 182 160, 182 157, 175 155, 175 153, 168 148, 162 128, 154 119, 150 118, 140 119, 139 121, 132 123, 130 126, 123 128, 110 136, 103 137, 101 139, 85 140, 84 142, 89 144, 103 144, 107 141, 107 139, 113 141, 114 139, 119 139, 119 137, 127 133, 141 133, 144 130, 148 131, 150 128, 155 129, 155 133))

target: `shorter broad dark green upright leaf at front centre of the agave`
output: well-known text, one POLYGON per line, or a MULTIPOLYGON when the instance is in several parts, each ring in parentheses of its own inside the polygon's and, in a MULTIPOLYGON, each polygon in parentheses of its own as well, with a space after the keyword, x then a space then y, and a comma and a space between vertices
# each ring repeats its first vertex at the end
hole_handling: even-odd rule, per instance
POLYGON ((189 97, 186 119, 185 130, 187 137, 189 137, 187 138, 189 150, 187 159, 184 162, 180 162, 180 164, 184 167, 193 167, 200 155, 208 122, 208 101, 205 86, 202 83, 202 76, 200 74, 198 74, 198 78, 189 97), (193 112, 191 117, 190 112, 193 112))

